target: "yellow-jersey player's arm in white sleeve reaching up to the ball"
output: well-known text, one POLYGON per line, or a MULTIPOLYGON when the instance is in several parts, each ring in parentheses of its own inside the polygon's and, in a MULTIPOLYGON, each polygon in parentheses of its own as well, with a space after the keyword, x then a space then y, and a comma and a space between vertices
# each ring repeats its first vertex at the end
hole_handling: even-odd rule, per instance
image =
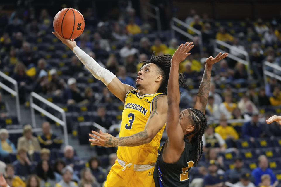
POLYGON ((121 101, 125 101, 126 93, 129 90, 134 89, 132 86, 123 84, 112 72, 101 67, 92 57, 82 51, 82 49, 76 45, 76 42, 73 39, 65 39, 57 32, 53 32, 53 34, 73 51, 73 53, 92 73, 92 75, 96 79, 101 80, 105 86, 107 86, 109 91, 111 91, 111 93, 113 93, 121 101))

